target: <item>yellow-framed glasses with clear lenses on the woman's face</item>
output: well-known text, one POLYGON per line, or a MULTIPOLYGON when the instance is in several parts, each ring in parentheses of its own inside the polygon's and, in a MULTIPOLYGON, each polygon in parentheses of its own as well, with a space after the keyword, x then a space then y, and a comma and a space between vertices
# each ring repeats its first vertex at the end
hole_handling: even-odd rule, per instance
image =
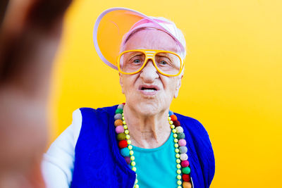
POLYGON ((159 73, 164 75, 178 75, 182 68, 180 57, 171 52, 128 51, 123 52, 118 59, 118 66, 123 73, 137 73, 145 67, 147 61, 152 60, 159 73), (146 54, 145 54, 146 53, 146 54))

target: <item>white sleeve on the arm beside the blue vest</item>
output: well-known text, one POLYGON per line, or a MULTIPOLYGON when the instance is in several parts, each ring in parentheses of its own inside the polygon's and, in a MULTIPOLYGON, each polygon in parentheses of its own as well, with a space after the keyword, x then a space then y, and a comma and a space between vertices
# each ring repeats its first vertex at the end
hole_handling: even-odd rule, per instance
POLYGON ((42 175, 47 188, 67 188, 73 179, 75 145, 82 124, 80 109, 73 112, 73 123, 51 144, 42 161, 42 175))

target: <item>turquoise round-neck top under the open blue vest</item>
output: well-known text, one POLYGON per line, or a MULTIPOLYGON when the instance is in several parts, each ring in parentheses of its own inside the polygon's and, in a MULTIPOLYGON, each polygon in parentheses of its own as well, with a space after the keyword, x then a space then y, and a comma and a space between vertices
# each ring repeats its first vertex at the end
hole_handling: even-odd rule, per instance
MULTIPOLYGON (((154 149, 133 146, 138 185, 143 187, 177 187, 176 153, 173 133, 168 140, 154 149)), ((130 165, 131 168, 131 165, 130 165)))

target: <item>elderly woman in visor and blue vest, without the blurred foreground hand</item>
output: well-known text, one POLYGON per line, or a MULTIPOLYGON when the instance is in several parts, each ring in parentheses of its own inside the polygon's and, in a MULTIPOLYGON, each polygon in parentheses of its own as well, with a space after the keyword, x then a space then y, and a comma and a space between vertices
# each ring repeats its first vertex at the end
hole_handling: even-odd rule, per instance
POLYGON ((44 156, 47 187, 209 187, 206 130, 169 110, 183 77, 182 32, 165 18, 111 8, 97 19, 94 44, 118 69, 126 103, 73 113, 44 156))

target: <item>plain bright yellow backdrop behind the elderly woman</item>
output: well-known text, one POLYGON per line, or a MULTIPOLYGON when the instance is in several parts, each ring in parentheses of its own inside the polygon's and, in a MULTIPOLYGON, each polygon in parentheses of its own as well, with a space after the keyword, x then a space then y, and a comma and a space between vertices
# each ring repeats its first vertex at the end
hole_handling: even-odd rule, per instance
POLYGON ((50 140, 71 124, 76 108, 125 101, 117 71, 102 63, 92 42, 97 16, 114 6, 166 17, 183 30, 188 57, 171 110, 200 120, 209 132, 212 187, 282 187, 279 0, 75 1, 51 77, 50 140))

